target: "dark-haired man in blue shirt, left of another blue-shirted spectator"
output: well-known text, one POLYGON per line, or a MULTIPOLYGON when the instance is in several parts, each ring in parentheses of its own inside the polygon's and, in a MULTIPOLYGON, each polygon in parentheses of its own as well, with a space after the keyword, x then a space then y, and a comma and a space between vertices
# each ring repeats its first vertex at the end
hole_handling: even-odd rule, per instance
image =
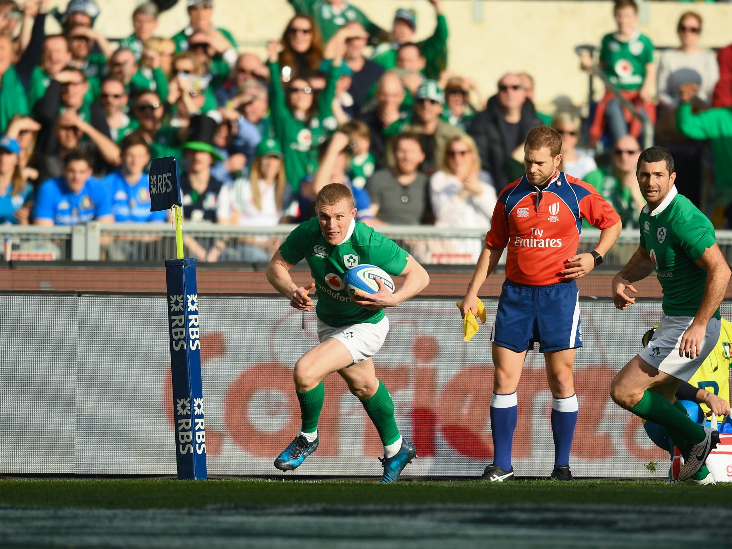
POLYGON ((91 160, 72 151, 64 158, 61 177, 43 183, 33 209, 34 225, 78 225, 89 221, 113 223, 112 195, 91 176, 91 160))

